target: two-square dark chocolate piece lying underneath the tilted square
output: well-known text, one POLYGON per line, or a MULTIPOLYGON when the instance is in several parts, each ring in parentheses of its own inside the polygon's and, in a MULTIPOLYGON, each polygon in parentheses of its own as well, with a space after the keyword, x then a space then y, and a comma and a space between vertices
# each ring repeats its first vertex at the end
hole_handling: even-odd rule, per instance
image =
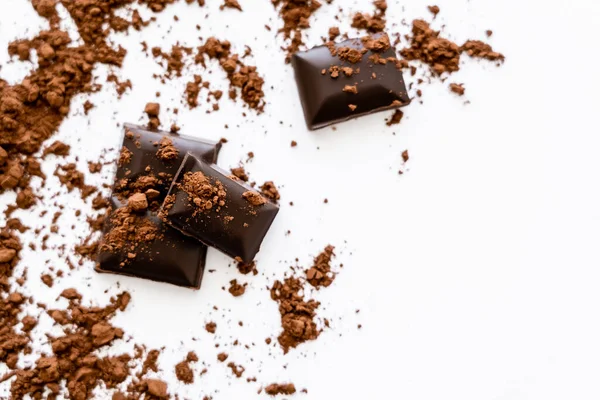
POLYGON ((96 271, 200 288, 207 248, 156 211, 188 152, 215 162, 220 143, 126 124, 96 271))

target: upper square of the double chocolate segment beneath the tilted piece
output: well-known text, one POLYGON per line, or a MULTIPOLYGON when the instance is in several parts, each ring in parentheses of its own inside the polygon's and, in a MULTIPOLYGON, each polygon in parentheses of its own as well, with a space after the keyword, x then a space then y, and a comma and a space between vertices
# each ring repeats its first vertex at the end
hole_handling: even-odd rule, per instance
POLYGON ((149 197, 152 198, 148 199, 150 209, 156 211, 164 201, 173 177, 188 152, 213 163, 216 162, 220 149, 220 142, 125 124, 125 138, 113 194, 123 202, 135 193, 131 190, 132 186, 142 192, 158 191, 152 192, 154 197, 151 194, 149 197))

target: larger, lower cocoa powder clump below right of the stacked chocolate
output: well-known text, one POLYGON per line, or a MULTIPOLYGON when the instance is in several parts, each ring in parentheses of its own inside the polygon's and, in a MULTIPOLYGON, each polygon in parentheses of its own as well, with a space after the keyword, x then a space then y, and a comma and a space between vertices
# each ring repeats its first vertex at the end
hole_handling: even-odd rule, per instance
POLYGON ((283 352, 295 348, 308 340, 315 340, 321 333, 314 322, 315 310, 319 303, 306 301, 302 281, 298 278, 286 278, 283 282, 275 281, 271 287, 271 299, 279 303, 282 332, 277 340, 283 352))

